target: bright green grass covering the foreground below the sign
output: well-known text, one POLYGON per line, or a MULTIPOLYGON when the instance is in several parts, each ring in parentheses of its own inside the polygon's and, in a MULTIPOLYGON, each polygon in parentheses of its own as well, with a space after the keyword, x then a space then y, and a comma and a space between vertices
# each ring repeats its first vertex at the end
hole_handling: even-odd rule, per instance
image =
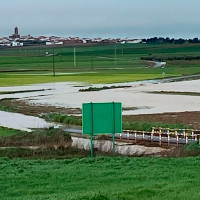
POLYGON ((200 157, 0 158, 0 198, 197 200, 200 157))

